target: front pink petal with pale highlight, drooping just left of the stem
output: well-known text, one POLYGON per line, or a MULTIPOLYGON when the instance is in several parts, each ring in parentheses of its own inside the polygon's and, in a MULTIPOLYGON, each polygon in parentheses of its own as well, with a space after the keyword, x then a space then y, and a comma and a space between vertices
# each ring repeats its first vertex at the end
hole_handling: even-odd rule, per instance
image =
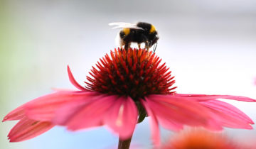
POLYGON ((105 116, 105 123, 126 140, 132 136, 137 123, 138 110, 134 101, 128 97, 120 97, 105 116))

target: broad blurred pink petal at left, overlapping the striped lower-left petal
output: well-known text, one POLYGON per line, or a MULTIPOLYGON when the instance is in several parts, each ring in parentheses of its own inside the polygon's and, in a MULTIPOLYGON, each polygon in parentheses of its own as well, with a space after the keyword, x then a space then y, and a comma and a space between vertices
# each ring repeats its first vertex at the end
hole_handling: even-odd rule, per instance
POLYGON ((93 92, 55 92, 38 97, 24 105, 26 116, 37 121, 51 121, 55 111, 70 101, 90 99, 93 92))

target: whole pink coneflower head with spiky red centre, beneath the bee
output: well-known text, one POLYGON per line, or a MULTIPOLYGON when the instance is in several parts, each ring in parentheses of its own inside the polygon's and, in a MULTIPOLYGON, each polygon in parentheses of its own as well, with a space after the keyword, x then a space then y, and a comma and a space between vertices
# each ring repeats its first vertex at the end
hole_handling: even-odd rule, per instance
POLYGON ((152 138, 160 144, 159 125, 172 131, 183 126, 210 130, 252 129, 252 120, 242 111, 217 99, 255 102, 244 96, 176 94, 165 63, 142 49, 114 50, 92 67, 87 87, 70 82, 78 91, 58 91, 18 107, 3 121, 20 120, 9 133, 11 142, 27 140, 55 125, 70 131, 107 126, 120 139, 132 137, 137 122, 151 118, 152 138), (100 63, 101 62, 101 63, 100 63))

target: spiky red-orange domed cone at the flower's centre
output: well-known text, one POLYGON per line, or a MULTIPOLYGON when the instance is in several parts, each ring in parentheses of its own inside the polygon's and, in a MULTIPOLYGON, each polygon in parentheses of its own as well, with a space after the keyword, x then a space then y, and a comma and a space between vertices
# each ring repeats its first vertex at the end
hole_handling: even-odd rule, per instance
POLYGON ((114 49, 92 67, 87 89, 105 94, 131 96, 137 100, 149 94, 172 94, 176 87, 171 71, 161 59, 143 49, 114 49))

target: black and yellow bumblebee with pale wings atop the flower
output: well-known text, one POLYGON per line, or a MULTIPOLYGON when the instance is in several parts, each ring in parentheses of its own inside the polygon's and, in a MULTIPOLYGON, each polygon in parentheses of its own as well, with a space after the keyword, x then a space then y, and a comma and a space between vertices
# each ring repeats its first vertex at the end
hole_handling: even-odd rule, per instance
POLYGON ((114 28, 122 28, 119 35, 117 35, 121 48, 124 46, 124 49, 127 50, 130 48, 131 43, 137 43, 138 47, 141 48, 141 44, 144 43, 146 50, 149 50, 154 45, 153 53, 155 52, 159 36, 152 24, 146 22, 137 24, 115 22, 109 23, 109 25, 115 26, 114 28))

